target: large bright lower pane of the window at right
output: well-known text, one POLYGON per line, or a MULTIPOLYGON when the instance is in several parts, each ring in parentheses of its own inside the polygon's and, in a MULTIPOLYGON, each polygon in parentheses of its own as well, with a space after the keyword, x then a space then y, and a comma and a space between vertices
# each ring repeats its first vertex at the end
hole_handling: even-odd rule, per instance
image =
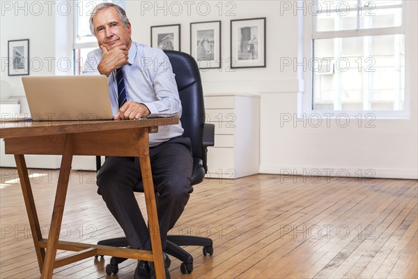
POLYGON ((314 40, 314 110, 403 110, 404 36, 314 40))

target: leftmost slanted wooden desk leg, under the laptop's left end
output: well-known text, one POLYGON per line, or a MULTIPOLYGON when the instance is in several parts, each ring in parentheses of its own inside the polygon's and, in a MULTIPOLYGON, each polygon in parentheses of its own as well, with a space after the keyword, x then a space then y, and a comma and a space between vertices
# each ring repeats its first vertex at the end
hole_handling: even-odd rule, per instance
POLYGON ((35 246, 36 257, 38 258, 39 271, 42 271, 43 262, 45 259, 45 249, 39 247, 38 241, 42 239, 42 232, 38 220, 38 213, 36 213, 35 200, 33 199, 31 181, 29 181, 28 169, 26 169, 26 162, 24 156, 21 154, 15 155, 17 172, 19 173, 20 186, 22 186, 22 193, 26 212, 28 213, 29 225, 31 225, 31 232, 33 238, 33 245, 35 246))

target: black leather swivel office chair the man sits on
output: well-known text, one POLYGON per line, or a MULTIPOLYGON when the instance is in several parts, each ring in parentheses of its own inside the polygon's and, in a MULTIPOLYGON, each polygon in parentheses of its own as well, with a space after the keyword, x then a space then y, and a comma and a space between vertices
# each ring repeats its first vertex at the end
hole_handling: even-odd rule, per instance
MULTIPOLYGON (((184 52, 171 50, 164 51, 171 62, 173 73, 176 74, 178 93, 183 107, 183 114, 180 118, 184 128, 183 135, 192 141, 193 149, 193 171, 192 186, 203 181, 208 172, 206 153, 208 146, 214 145, 215 125, 205 123, 205 105, 203 103, 203 89, 199 67, 193 57, 184 52)), ((97 167, 100 168, 100 157, 97 160, 97 167)), ((157 195, 156 195, 157 199, 157 195)), ((157 200, 158 202, 158 200, 157 200)), ((106 246, 127 247, 125 237, 99 241, 98 244, 106 246)), ((167 236, 167 254, 180 259, 180 271, 191 273, 193 271, 193 257, 180 246, 203 246, 203 255, 213 253, 212 239, 200 236, 167 236)), ((106 266, 107 275, 118 273, 118 264, 125 259, 112 257, 110 264, 106 266)))

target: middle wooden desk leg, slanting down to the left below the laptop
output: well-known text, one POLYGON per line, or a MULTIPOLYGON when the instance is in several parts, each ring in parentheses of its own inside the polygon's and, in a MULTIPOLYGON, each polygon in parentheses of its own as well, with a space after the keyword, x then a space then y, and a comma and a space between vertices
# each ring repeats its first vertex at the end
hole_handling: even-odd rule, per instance
POLYGON ((51 227, 49 229, 47 252, 42 269, 41 278, 52 278, 54 271, 56 248, 58 247, 61 222, 63 220, 65 196, 67 195, 68 179, 70 179, 72 161, 72 135, 65 137, 65 146, 63 158, 61 159, 61 168, 59 171, 58 184, 56 186, 54 209, 52 211, 51 227))

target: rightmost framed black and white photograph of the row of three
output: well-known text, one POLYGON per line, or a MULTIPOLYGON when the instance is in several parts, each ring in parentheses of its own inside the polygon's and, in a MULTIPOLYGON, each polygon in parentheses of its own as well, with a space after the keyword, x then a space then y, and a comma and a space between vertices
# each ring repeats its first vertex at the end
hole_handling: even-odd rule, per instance
POLYGON ((231 20, 231 68, 265 67, 265 17, 231 20))

